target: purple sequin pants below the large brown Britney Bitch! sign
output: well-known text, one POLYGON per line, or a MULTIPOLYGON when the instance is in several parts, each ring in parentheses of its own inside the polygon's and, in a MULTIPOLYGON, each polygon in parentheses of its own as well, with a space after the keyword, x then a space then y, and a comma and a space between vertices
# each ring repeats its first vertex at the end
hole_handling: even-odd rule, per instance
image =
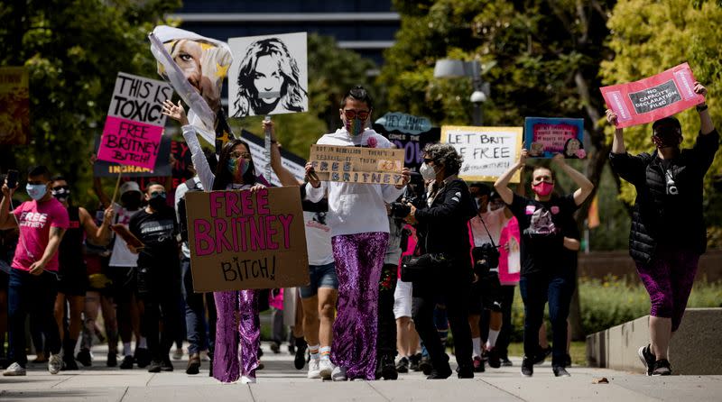
POLYGON ((258 292, 231 290, 214 292, 218 321, 213 377, 233 382, 240 376, 255 378, 261 323, 258 319, 258 292))

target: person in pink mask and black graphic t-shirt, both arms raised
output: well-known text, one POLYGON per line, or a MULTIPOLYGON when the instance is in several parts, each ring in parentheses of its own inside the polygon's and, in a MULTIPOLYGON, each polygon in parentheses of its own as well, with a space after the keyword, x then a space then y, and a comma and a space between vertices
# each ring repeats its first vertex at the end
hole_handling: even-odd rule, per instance
POLYGON ((519 221, 522 233, 522 275, 519 291, 524 303, 524 358, 522 375, 532 377, 534 359, 539 348, 539 328, 544 318, 544 305, 549 301, 554 343, 551 369, 557 377, 568 377, 565 369, 567 355, 567 316, 575 282, 560 269, 564 248, 571 239, 564 230, 573 221, 572 214, 591 194, 594 185, 583 174, 572 169, 557 154, 552 160, 579 186, 572 194, 556 196, 554 174, 549 168, 537 166, 532 171, 533 198, 514 194, 508 187, 517 169, 522 169, 528 151, 522 150, 518 162, 496 180, 494 187, 504 203, 519 221))

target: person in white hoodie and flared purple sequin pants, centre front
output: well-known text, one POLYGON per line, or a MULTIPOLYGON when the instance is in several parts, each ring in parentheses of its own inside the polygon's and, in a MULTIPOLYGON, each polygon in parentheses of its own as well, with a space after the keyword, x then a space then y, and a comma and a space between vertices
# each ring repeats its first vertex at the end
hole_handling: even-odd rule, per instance
MULTIPOLYGON (((354 87, 341 100, 344 126, 324 135, 321 145, 391 148, 391 142, 368 129, 373 101, 364 87, 354 87)), ((306 165, 307 198, 319 202, 329 192, 331 243, 338 276, 338 315, 333 324, 331 361, 337 366, 331 379, 375 379, 378 283, 389 241, 385 203, 392 203, 409 182, 356 184, 319 181, 313 165, 306 165)))

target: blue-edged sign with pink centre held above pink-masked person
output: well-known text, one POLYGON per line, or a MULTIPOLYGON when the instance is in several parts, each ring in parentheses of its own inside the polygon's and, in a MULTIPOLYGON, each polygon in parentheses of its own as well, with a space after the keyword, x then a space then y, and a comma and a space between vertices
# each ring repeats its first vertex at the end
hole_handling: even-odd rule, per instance
POLYGON ((526 117, 524 143, 532 158, 551 158, 560 153, 564 158, 584 159, 584 119, 526 117))

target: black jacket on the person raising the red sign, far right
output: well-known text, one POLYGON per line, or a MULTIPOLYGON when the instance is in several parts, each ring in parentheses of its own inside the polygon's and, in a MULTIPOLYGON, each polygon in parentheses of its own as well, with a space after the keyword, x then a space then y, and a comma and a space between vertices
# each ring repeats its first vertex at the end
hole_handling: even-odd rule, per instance
POLYGON ((717 130, 699 135, 691 149, 664 162, 653 154, 610 153, 612 169, 636 187, 637 196, 629 234, 629 254, 649 263, 660 244, 690 247, 699 254, 707 247, 707 228, 702 209, 703 179, 719 147, 717 130), (665 166, 665 163, 668 163, 665 166), (668 195, 670 171, 679 194, 668 195))

